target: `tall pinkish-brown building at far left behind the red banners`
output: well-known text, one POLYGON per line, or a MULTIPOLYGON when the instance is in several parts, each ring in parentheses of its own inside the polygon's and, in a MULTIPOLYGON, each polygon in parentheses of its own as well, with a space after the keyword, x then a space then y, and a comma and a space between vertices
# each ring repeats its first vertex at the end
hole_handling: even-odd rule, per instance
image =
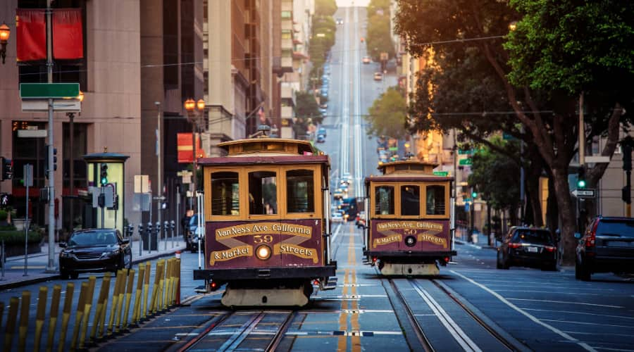
MULTIPOLYGON (((73 139, 70 116, 54 113, 54 147, 59 159, 54 172, 55 227, 62 234, 73 227, 94 225, 96 210, 87 202, 90 177, 82 158, 89 153, 108 151, 130 157, 125 162, 121 185, 125 194, 120 206, 125 220, 135 224, 142 220, 139 203, 133 196, 134 176, 149 175, 156 194, 159 184, 154 136, 159 123, 164 161, 161 168, 165 170, 161 183, 165 184, 168 201, 175 203, 175 186, 179 181, 175 172, 182 168, 175 157, 176 133, 191 132, 182 101, 189 96, 202 97, 203 93, 201 6, 201 0, 53 2, 53 8, 80 9, 83 37, 83 57, 54 60, 53 68, 53 82, 78 82, 85 94, 82 111, 73 119, 73 139)), ((18 218, 24 217, 26 194, 20 180, 23 165, 34 165, 29 213, 32 222, 41 227, 48 222, 48 207, 39 201, 39 190, 47 184, 44 175, 47 139, 21 138, 18 133, 46 130, 47 115, 21 111, 19 84, 46 82, 46 62, 16 61, 15 9, 45 7, 46 0, 0 2, 0 21, 11 28, 6 64, 0 65, 0 155, 13 159, 15 166, 13 181, 1 182, 0 191, 13 195, 18 218)), ((148 221, 145 214, 143 220, 148 221)), ((180 217, 172 206, 165 218, 180 217)), ((118 219, 118 227, 122 224, 123 219, 118 219)))

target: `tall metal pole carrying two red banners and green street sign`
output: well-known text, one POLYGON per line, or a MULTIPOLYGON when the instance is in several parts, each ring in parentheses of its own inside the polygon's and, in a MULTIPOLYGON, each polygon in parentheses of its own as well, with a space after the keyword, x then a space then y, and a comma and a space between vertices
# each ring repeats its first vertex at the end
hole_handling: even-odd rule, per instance
MULTIPOLYGON (((51 0, 46 0, 46 76, 53 83, 53 36, 51 30, 51 0)), ((47 272, 55 272, 55 171, 53 170, 53 99, 49 99, 49 265, 47 272)))

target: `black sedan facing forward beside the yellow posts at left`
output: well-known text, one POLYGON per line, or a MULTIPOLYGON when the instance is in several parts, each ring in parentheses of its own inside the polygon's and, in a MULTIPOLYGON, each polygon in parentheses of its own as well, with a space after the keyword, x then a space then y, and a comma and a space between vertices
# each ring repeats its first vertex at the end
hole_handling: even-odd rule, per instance
POLYGON ((80 272, 117 272, 132 267, 130 240, 116 229, 73 232, 68 243, 60 242, 59 272, 63 279, 76 279, 80 272))

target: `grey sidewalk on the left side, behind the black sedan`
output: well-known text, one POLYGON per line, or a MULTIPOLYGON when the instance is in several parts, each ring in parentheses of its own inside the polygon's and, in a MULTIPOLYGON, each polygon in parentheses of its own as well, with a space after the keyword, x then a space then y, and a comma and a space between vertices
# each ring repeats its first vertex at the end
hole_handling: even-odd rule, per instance
MULTIPOLYGON (((175 237, 172 241, 169 237, 166 241, 159 241, 158 251, 144 251, 139 255, 140 241, 131 241, 132 263, 137 264, 146 260, 172 256, 176 251, 185 251, 185 241, 182 237, 175 237)), ((58 266, 61 247, 55 244, 55 265, 58 266)), ((42 253, 32 253, 27 256, 27 276, 25 276, 24 256, 11 256, 6 258, 4 275, 0 273, 0 290, 13 289, 28 284, 44 282, 59 278, 59 272, 46 272, 49 263, 49 245, 42 245, 42 253)))

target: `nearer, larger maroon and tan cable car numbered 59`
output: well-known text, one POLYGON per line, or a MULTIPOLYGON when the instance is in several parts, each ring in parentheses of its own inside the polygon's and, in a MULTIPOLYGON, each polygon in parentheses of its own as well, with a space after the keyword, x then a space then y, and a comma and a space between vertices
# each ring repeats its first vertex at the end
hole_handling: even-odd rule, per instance
MULTIPOLYGON (((242 139, 201 158, 204 279, 227 284, 225 306, 304 306, 318 280, 333 289, 328 156, 306 141, 242 139)), ((212 284, 213 283, 213 284, 212 284)))

